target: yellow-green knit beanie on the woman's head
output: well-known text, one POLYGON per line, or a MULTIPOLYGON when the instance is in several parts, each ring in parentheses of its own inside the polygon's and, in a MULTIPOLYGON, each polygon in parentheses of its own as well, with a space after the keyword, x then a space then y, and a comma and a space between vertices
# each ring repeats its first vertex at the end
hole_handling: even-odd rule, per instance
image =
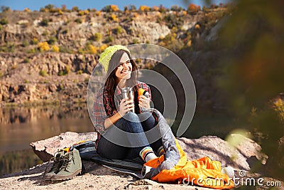
POLYGON ((108 48, 106 48, 104 52, 101 54, 101 56, 99 57, 99 63, 101 63, 104 66, 104 70, 106 72, 109 69, 109 60, 111 60, 111 57, 118 50, 125 50, 130 53, 129 49, 126 48, 125 46, 115 45, 115 46, 109 46, 108 48))

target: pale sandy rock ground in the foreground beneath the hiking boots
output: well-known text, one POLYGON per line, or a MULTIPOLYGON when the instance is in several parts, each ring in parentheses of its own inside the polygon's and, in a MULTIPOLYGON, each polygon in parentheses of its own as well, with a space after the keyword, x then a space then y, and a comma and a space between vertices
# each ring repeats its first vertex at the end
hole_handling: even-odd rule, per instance
POLYGON ((138 180, 128 174, 83 162, 87 173, 67 181, 44 181, 45 164, 0 179, 0 189, 207 189, 178 184, 160 184, 148 179, 138 180))

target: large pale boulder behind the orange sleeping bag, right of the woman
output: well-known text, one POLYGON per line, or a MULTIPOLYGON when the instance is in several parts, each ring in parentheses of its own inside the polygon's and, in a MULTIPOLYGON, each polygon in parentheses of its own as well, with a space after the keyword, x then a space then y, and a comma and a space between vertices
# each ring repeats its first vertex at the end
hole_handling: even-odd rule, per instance
POLYGON ((267 156, 261 153, 261 146, 241 134, 230 134, 231 139, 239 141, 232 146, 216 136, 203 136, 199 139, 178 138, 178 142, 187 154, 187 159, 209 157, 234 169, 249 170, 256 162, 266 164, 267 156), (240 140, 241 139, 241 140, 240 140))

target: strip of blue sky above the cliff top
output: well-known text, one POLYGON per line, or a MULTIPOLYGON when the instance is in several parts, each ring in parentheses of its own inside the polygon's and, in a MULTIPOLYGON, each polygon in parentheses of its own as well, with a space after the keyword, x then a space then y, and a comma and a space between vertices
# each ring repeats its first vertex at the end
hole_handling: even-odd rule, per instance
MULTIPOLYGON (((215 0, 215 4, 226 0, 215 0)), ((191 0, 192 3, 203 6, 203 1, 201 0, 191 0)), ((72 9, 72 6, 78 6, 79 9, 97 9, 101 10, 104 6, 115 4, 119 6, 119 9, 124 10, 124 6, 135 5, 138 9, 141 5, 146 6, 163 6, 170 8, 171 6, 178 5, 183 8, 187 8, 187 4, 182 0, 0 0, 0 6, 9 6, 12 10, 23 11, 23 9, 29 8, 32 11, 39 11, 41 7, 48 4, 53 4, 56 7, 61 7, 66 5, 67 9, 72 9)))

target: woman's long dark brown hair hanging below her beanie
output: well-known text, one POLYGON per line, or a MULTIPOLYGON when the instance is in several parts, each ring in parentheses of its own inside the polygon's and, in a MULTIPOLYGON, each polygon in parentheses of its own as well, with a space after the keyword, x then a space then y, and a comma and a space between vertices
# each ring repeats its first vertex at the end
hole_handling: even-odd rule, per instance
POLYGON ((130 59, 130 63, 132 65, 132 72, 131 72, 131 78, 126 80, 126 85, 129 87, 133 87, 134 91, 137 91, 136 89, 136 81, 137 81, 137 72, 138 70, 136 63, 134 60, 132 60, 131 55, 128 51, 124 50, 118 50, 114 53, 113 56, 111 56, 111 60, 109 60, 109 69, 107 70, 107 81, 104 85, 104 91, 107 91, 107 94, 109 95, 109 100, 111 101, 111 107, 115 107, 114 105, 114 92, 116 90, 116 86, 118 85, 118 81, 116 78, 116 70, 117 67, 120 65, 121 57, 124 53, 127 53, 130 59), (135 71, 135 72, 133 72, 135 71))

